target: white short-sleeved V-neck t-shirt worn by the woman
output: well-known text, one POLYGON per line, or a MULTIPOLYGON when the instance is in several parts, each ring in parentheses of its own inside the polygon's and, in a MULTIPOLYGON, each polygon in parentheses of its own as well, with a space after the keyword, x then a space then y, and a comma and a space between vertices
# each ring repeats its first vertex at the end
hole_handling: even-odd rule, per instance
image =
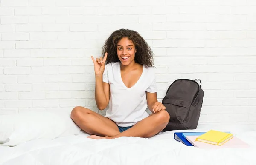
POLYGON ((146 68, 143 65, 139 80, 131 88, 123 83, 120 68, 120 62, 105 65, 103 82, 110 85, 109 108, 105 117, 118 126, 127 127, 148 117, 146 91, 155 93, 157 87, 154 67, 146 68))

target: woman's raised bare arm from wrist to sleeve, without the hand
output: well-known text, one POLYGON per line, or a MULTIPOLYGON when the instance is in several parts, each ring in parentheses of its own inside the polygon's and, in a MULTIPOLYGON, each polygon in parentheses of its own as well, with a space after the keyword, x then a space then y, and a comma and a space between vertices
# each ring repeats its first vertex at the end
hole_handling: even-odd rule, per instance
POLYGON ((110 91, 109 84, 103 82, 103 75, 95 75, 95 100, 99 110, 103 110, 108 106, 110 91))

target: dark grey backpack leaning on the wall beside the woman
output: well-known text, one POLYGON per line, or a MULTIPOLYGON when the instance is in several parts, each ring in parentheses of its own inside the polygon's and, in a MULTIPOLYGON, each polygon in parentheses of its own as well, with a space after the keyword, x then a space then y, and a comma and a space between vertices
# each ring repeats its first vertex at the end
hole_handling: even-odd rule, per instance
POLYGON ((177 79, 167 89, 162 104, 170 120, 163 131, 197 128, 204 91, 195 80, 177 79))

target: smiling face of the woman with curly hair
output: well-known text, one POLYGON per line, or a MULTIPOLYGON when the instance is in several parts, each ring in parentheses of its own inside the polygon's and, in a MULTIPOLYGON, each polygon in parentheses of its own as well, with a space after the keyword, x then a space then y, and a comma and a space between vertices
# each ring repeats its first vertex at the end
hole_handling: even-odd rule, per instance
POLYGON ((135 53, 136 53, 135 45, 127 37, 122 38, 117 43, 117 56, 120 62, 122 63, 122 65, 127 66, 131 63, 135 63, 134 61, 135 53))

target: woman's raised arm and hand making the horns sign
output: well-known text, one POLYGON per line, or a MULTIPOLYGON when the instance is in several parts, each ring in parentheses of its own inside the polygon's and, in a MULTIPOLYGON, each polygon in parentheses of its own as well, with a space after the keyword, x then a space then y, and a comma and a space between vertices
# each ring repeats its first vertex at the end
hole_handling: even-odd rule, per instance
POLYGON ((103 82, 103 73, 105 70, 107 55, 108 54, 105 53, 103 59, 100 57, 96 58, 96 60, 94 60, 92 56, 95 71, 95 100, 99 110, 103 110, 108 106, 110 98, 109 84, 103 82))

